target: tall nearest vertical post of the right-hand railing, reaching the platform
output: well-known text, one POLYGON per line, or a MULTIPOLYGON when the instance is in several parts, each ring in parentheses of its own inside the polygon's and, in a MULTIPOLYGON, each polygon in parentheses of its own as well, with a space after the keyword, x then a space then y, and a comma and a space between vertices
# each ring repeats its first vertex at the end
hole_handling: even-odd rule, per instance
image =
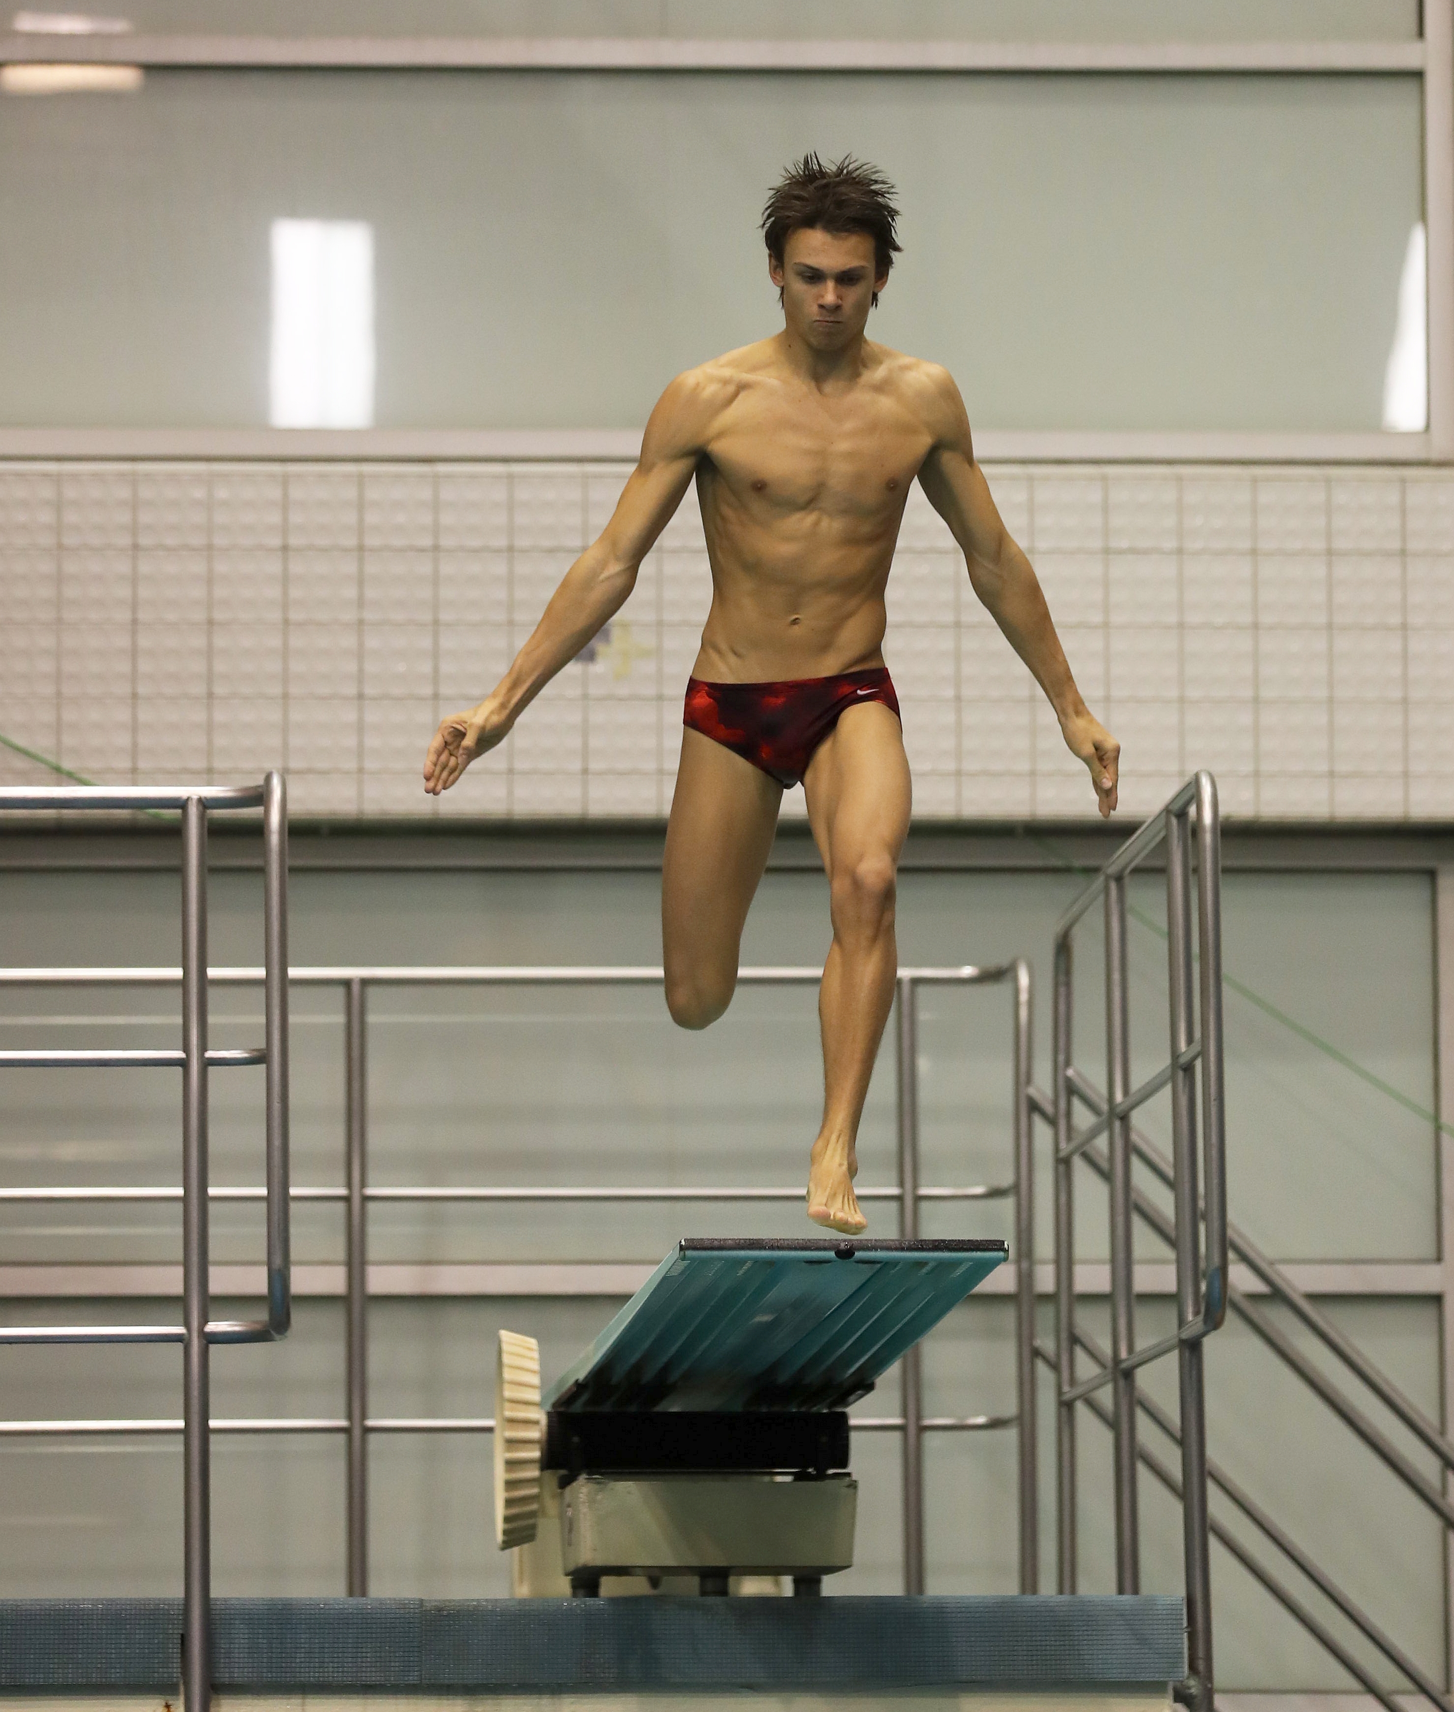
MULTIPOLYGON (((1201 1197, 1197 1188, 1197 1067, 1194 1039, 1192 866, 1185 810, 1166 813, 1166 988, 1171 1044, 1171 1157, 1177 1221, 1177 1325, 1202 1317, 1201 1197)), ((1211 1712, 1211 1541, 1207 1426, 1201 1340, 1177 1351, 1182 1407, 1182 1553, 1187 1589, 1187 1669, 1194 1712, 1211 1712)))

